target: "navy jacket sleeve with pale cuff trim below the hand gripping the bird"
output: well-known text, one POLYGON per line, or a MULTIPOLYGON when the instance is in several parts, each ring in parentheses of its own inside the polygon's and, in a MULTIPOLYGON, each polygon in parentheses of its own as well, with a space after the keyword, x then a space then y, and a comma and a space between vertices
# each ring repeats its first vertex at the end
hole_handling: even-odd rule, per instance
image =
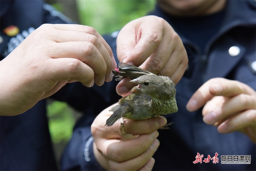
POLYGON ((93 119, 94 117, 89 119, 84 115, 76 125, 72 138, 63 152, 61 170, 104 170, 93 154, 93 136, 90 131, 93 119), (81 124, 83 126, 80 126, 81 124))

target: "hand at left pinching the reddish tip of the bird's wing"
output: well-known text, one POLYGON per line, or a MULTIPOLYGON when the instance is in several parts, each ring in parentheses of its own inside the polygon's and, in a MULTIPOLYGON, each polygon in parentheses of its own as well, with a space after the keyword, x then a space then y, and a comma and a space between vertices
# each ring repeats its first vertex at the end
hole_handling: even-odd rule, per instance
POLYGON ((0 62, 0 114, 23 113, 66 83, 102 85, 115 67, 110 46, 94 28, 42 25, 0 62))

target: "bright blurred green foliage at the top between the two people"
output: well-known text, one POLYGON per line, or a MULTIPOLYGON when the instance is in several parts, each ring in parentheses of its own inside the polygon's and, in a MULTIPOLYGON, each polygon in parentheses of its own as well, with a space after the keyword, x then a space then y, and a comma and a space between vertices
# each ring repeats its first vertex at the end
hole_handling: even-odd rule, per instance
POLYGON ((155 0, 77 0, 81 24, 101 35, 121 29, 154 9, 155 0))

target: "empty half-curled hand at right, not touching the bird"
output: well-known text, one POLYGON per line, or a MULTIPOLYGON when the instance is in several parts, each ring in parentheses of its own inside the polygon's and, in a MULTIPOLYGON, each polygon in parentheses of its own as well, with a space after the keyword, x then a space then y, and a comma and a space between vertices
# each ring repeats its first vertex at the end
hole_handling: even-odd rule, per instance
POLYGON ((256 143, 256 92, 251 87, 239 81, 211 79, 190 98, 187 109, 195 111, 203 105, 205 123, 218 127, 220 133, 241 131, 256 143))

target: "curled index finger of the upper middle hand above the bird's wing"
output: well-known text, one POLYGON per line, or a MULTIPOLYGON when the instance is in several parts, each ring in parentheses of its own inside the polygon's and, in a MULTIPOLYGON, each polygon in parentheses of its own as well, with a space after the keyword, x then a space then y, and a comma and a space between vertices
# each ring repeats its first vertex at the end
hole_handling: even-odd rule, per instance
MULTIPOLYGON (((158 25, 152 25, 152 22, 150 23, 150 27, 147 22, 138 22, 138 20, 144 21, 142 18, 145 19, 146 17, 133 20, 119 32, 117 37, 117 56, 119 61, 124 61, 126 58, 125 62, 133 62, 134 65, 140 66, 161 42, 162 28, 159 29, 158 25)), ((152 19, 154 18, 152 17, 152 19)))

